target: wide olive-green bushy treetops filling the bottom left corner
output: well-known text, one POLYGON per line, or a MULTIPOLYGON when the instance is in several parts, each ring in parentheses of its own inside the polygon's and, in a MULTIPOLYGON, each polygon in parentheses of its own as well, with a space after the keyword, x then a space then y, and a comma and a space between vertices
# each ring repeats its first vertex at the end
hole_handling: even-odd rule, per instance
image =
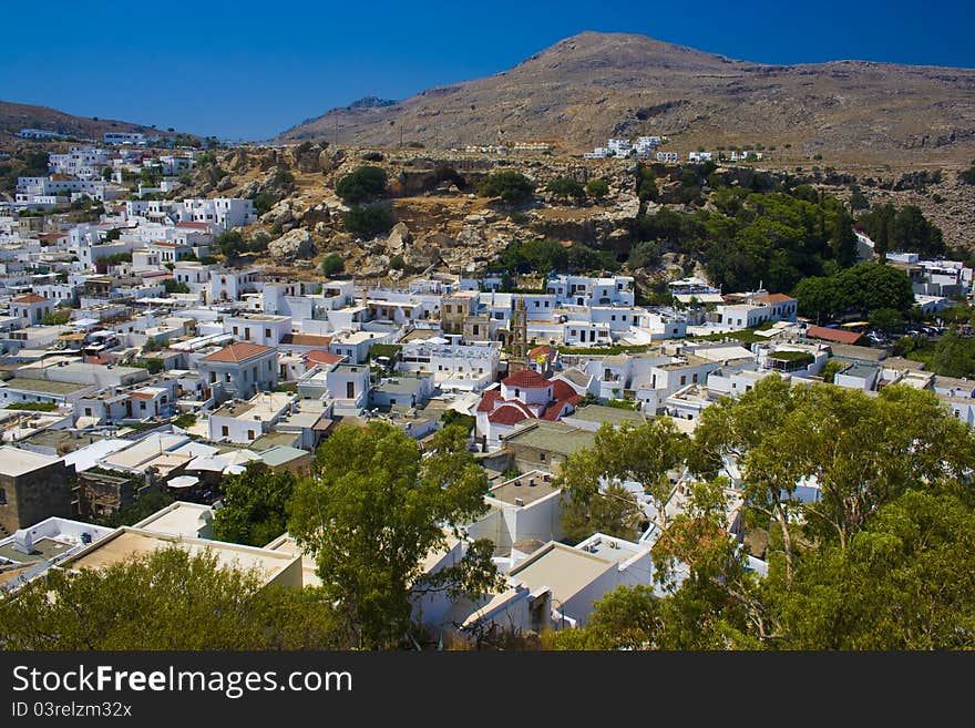
POLYGON ((0 648, 336 649, 346 637, 317 589, 261 588, 256 571, 172 547, 105 568, 51 570, 0 599, 0 648))

